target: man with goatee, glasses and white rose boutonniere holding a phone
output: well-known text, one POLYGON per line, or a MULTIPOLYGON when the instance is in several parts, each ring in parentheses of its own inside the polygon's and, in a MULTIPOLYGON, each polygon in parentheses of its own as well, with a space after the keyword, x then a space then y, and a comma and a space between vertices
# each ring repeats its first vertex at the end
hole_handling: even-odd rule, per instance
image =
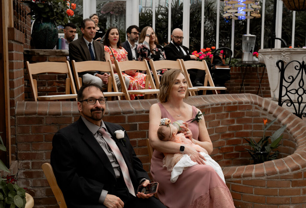
POLYGON ((102 88, 83 85, 77 100, 81 116, 54 135, 50 158, 67 207, 166 208, 152 194, 135 193, 149 176, 124 128, 103 121, 102 88))

